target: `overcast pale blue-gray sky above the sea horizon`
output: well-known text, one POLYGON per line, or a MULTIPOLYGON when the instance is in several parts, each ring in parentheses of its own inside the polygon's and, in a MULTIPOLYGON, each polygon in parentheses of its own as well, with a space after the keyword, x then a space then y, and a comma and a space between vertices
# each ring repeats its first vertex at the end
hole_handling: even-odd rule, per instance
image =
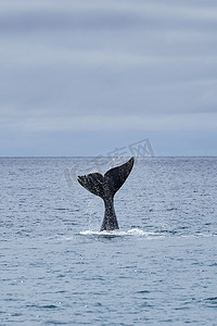
POLYGON ((0 156, 217 155, 216 0, 0 0, 0 156))

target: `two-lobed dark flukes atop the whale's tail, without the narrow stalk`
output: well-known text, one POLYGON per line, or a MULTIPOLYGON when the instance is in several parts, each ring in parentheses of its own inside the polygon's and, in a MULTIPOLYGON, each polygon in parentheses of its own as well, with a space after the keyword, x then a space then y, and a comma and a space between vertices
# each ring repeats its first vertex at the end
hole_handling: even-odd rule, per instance
POLYGON ((91 173, 78 176, 78 183, 90 192, 100 196, 102 199, 113 197, 115 192, 123 186, 130 174, 135 159, 108 170, 104 176, 100 173, 91 173))

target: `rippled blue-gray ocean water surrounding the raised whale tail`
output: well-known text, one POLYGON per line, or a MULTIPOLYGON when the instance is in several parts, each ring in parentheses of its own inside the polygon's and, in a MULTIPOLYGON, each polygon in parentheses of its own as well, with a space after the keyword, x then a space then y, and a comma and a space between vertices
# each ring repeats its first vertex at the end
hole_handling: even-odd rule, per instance
POLYGON ((1 326, 217 325, 217 158, 139 160, 99 233, 112 163, 0 159, 1 326))

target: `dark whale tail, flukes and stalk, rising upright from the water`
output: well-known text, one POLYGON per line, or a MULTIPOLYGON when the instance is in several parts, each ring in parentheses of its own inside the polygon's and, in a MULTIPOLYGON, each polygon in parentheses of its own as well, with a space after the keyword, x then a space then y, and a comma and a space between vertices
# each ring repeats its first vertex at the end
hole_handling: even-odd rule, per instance
POLYGON ((108 170, 104 175, 100 173, 90 173, 78 176, 78 183, 87 190, 99 196, 104 201, 104 218, 100 231, 118 229, 117 217, 114 209, 114 196, 124 185, 129 176, 135 163, 132 156, 126 163, 108 170))

